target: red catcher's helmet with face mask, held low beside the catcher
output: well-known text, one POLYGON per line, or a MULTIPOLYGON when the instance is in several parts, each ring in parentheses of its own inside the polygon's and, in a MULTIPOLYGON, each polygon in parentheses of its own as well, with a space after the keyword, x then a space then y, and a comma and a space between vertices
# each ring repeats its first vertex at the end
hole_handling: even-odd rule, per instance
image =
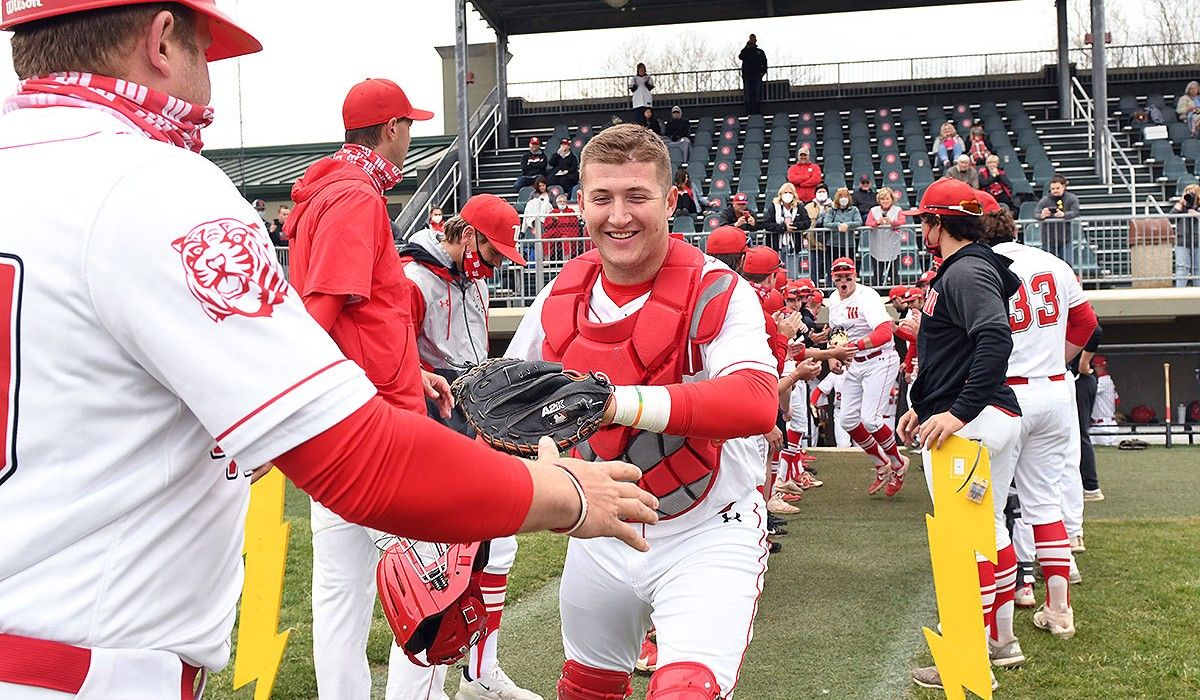
POLYGON ((384 550, 376 568, 379 602, 396 644, 413 663, 452 664, 482 639, 487 612, 479 578, 486 563, 487 548, 478 542, 398 537, 384 550))

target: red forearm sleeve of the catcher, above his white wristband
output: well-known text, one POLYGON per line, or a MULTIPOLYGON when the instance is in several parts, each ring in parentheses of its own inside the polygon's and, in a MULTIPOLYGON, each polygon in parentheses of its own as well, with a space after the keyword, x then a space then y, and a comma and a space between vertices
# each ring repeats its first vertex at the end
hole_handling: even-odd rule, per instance
POLYGON ((667 385, 671 418, 662 432, 730 439, 770 432, 779 409, 779 378, 762 370, 667 385))

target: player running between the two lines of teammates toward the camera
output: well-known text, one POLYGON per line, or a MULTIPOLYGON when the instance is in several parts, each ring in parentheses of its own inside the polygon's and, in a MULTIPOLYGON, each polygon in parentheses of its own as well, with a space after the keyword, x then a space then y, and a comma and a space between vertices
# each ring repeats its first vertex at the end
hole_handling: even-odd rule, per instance
POLYGON ((878 292, 858 285, 854 261, 838 258, 829 271, 838 292, 829 298, 829 327, 857 351, 841 389, 841 426, 875 463, 875 480, 866 492, 874 495, 883 489, 892 497, 900 492, 908 469, 908 457, 900 454, 890 421, 884 418, 900 369, 892 341, 892 316, 878 292))

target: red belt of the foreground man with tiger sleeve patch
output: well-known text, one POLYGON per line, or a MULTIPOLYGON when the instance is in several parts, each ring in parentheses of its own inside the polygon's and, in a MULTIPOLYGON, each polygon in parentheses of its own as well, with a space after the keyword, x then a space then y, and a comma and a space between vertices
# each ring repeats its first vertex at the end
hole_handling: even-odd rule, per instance
MULTIPOLYGON (((0 682, 78 693, 91 668, 91 650, 60 641, 0 634, 0 682)), ((184 664, 180 698, 194 696, 199 669, 184 664)))

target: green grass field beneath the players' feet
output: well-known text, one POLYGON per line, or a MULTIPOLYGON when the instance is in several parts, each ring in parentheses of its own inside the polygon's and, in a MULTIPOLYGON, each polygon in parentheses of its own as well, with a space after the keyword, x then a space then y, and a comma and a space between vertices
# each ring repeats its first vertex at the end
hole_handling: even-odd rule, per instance
MULTIPOLYGON (((1108 499, 1087 504, 1087 551, 1078 555, 1084 584, 1073 591, 1079 632, 1060 641, 1033 628, 1032 612, 1018 611, 1028 662, 998 674, 997 698, 1200 698, 1200 449, 1102 448, 1098 462, 1108 499)), ((920 627, 936 622, 920 474, 883 501, 865 496, 869 474, 858 457, 828 454, 818 463, 826 485, 802 503, 781 538, 784 552, 770 560, 737 696, 943 696, 908 682, 914 665, 930 662, 920 627)), ((316 681, 306 498, 289 491, 287 513, 293 528, 281 624, 294 632, 274 696, 310 699, 316 681)), ((522 536, 521 546, 500 659, 515 680, 553 698, 563 658, 557 575, 565 543, 522 536)), ((388 644, 386 623, 377 616, 368 657, 380 698, 388 644)), ((228 670, 214 677, 208 696, 252 696, 248 687, 232 690, 229 678, 228 670)), ((638 678, 635 698, 644 687, 638 678)))

